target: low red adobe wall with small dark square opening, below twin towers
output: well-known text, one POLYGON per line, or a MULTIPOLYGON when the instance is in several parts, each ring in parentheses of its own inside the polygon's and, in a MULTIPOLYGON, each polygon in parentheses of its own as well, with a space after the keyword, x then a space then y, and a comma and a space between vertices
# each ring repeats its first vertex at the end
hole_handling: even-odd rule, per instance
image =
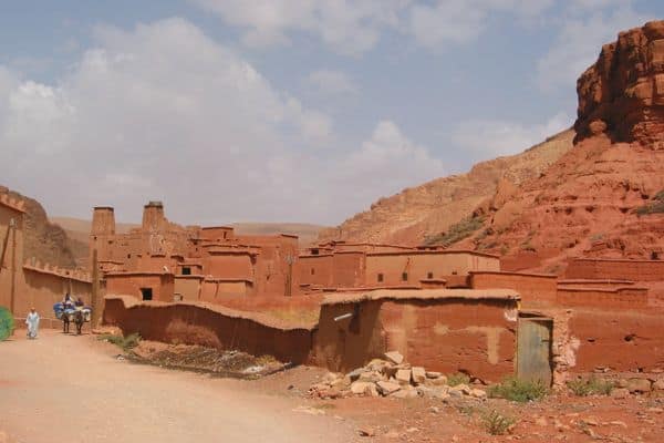
POLYGON ((152 288, 153 300, 173 301, 175 278, 173 274, 117 272, 106 274, 106 293, 142 298, 141 288, 152 288))

